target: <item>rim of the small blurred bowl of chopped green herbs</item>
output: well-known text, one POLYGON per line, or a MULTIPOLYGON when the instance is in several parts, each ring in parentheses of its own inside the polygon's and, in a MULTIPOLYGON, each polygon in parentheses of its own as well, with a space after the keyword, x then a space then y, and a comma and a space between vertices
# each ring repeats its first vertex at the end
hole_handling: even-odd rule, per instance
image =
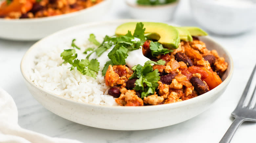
POLYGON ((147 5, 138 5, 138 4, 132 4, 129 2, 129 0, 125 0, 125 3, 134 8, 144 8, 144 9, 154 9, 154 8, 166 8, 166 7, 171 7, 171 6, 176 6, 178 5, 180 0, 177 0, 176 2, 170 3, 170 4, 164 4, 164 5, 156 5, 156 6, 147 6, 147 5))

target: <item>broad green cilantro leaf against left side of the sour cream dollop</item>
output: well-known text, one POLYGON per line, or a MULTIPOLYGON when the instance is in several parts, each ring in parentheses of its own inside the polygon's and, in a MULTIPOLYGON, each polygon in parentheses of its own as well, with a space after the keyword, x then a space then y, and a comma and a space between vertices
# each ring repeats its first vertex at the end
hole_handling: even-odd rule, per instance
POLYGON ((128 56, 128 49, 117 43, 116 46, 108 53, 109 59, 114 65, 125 65, 125 59, 128 56))

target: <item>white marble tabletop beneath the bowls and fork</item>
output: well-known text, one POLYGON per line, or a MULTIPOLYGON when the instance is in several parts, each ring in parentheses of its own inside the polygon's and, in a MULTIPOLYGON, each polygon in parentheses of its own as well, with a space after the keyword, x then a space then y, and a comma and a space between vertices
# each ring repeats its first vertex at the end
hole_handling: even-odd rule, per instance
MULTIPOLYGON (((113 10, 102 20, 130 18, 123 1, 115 0, 113 10)), ((182 0, 173 21, 180 25, 199 26, 191 18, 187 0, 182 0)), ((231 25, 232 26, 232 25, 231 25)), ((0 27, 1 28, 1 27, 0 27)), ((1 30, 0 30, 1 32, 1 30)), ((17 42, 0 39, 0 87, 13 97, 19 112, 19 125, 23 128, 49 136, 77 139, 83 142, 218 142, 233 118, 230 113, 236 107, 256 63, 256 28, 236 36, 211 35, 232 55, 234 60, 233 78, 224 94, 199 116, 185 122, 143 131, 113 131, 80 125, 58 117, 46 110, 30 94, 23 82, 20 61, 34 42, 17 42)), ((254 83, 256 80, 254 80, 254 83)), ((243 123, 232 143, 255 142, 256 123, 243 123)))

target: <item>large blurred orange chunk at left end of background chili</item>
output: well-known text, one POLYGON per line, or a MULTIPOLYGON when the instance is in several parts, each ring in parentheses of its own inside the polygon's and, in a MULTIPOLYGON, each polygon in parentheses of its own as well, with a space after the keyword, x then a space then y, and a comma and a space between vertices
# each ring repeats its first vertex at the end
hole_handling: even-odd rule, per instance
POLYGON ((13 0, 9 5, 4 2, 0 7, 0 15, 7 15, 10 12, 27 13, 33 7, 34 0, 13 0))

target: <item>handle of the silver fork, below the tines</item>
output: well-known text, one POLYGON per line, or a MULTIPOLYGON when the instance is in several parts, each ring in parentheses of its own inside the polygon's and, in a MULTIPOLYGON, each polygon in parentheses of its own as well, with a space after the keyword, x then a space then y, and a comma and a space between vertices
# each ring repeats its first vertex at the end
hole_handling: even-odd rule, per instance
POLYGON ((237 128, 245 121, 244 117, 237 117, 234 119, 233 123, 227 129, 225 135, 222 137, 220 143, 229 143, 233 135, 235 134, 237 128))

